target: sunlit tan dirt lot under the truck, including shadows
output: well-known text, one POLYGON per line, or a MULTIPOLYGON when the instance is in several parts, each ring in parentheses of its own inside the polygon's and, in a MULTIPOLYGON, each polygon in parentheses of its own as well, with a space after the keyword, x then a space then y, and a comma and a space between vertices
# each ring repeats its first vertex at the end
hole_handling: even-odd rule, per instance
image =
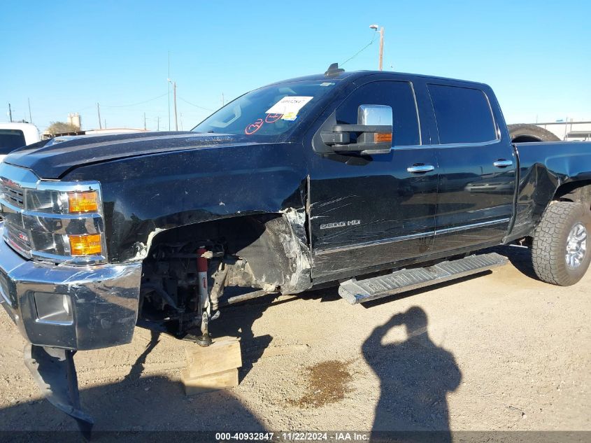
MULTIPOLYGON (((460 283, 350 306, 336 290, 222 311, 240 386, 185 397, 184 342, 136 330, 76 355, 96 430, 591 430, 591 272, 536 281, 528 252, 460 283), (157 341, 156 341, 157 340, 157 341)), ((0 430, 74 430, 41 400, 0 314, 0 430)))

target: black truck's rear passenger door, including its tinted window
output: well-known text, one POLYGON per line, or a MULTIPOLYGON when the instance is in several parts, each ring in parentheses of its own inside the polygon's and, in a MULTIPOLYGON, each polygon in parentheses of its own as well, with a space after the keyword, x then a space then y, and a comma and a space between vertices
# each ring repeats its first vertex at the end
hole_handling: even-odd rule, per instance
POLYGON ((500 242, 513 217, 516 160, 511 141, 501 138, 496 99, 466 84, 427 90, 440 143, 434 252, 500 242))

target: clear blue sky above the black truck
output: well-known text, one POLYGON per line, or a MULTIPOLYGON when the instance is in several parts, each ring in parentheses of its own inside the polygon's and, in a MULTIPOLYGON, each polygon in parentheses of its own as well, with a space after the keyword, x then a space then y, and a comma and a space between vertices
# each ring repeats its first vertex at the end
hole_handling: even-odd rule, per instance
POLYGON ((377 69, 492 86, 508 123, 591 120, 591 1, 1 1, 0 121, 188 130, 277 80, 377 69), (169 63, 170 59, 170 63, 169 63), (169 71, 170 66, 170 71, 169 71), (170 72, 170 73, 169 73, 170 72))

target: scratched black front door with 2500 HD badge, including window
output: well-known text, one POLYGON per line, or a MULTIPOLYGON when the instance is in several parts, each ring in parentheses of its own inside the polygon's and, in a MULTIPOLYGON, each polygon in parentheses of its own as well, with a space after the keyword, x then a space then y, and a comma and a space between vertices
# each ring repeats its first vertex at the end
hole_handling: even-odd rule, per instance
POLYGON ((438 168, 420 142, 413 86, 380 80, 354 90, 336 122, 355 125, 361 105, 392 108, 389 153, 313 155, 310 225, 313 278, 426 255, 435 232, 438 168))

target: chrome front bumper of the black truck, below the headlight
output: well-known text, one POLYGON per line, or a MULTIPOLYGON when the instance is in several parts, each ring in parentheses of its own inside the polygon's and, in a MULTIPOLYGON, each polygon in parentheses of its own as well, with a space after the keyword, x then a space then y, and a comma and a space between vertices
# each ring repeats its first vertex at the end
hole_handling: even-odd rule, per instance
POLYGON ((141 262, 87 267, 42 264, 15 253, 1 240, 3 229, 0 223, 0 303, 31 344, 83 351, 131 342, 141 262), (46 311, 43 300, 54 294, 67 302, 69 321, 39 314, 46 311))

